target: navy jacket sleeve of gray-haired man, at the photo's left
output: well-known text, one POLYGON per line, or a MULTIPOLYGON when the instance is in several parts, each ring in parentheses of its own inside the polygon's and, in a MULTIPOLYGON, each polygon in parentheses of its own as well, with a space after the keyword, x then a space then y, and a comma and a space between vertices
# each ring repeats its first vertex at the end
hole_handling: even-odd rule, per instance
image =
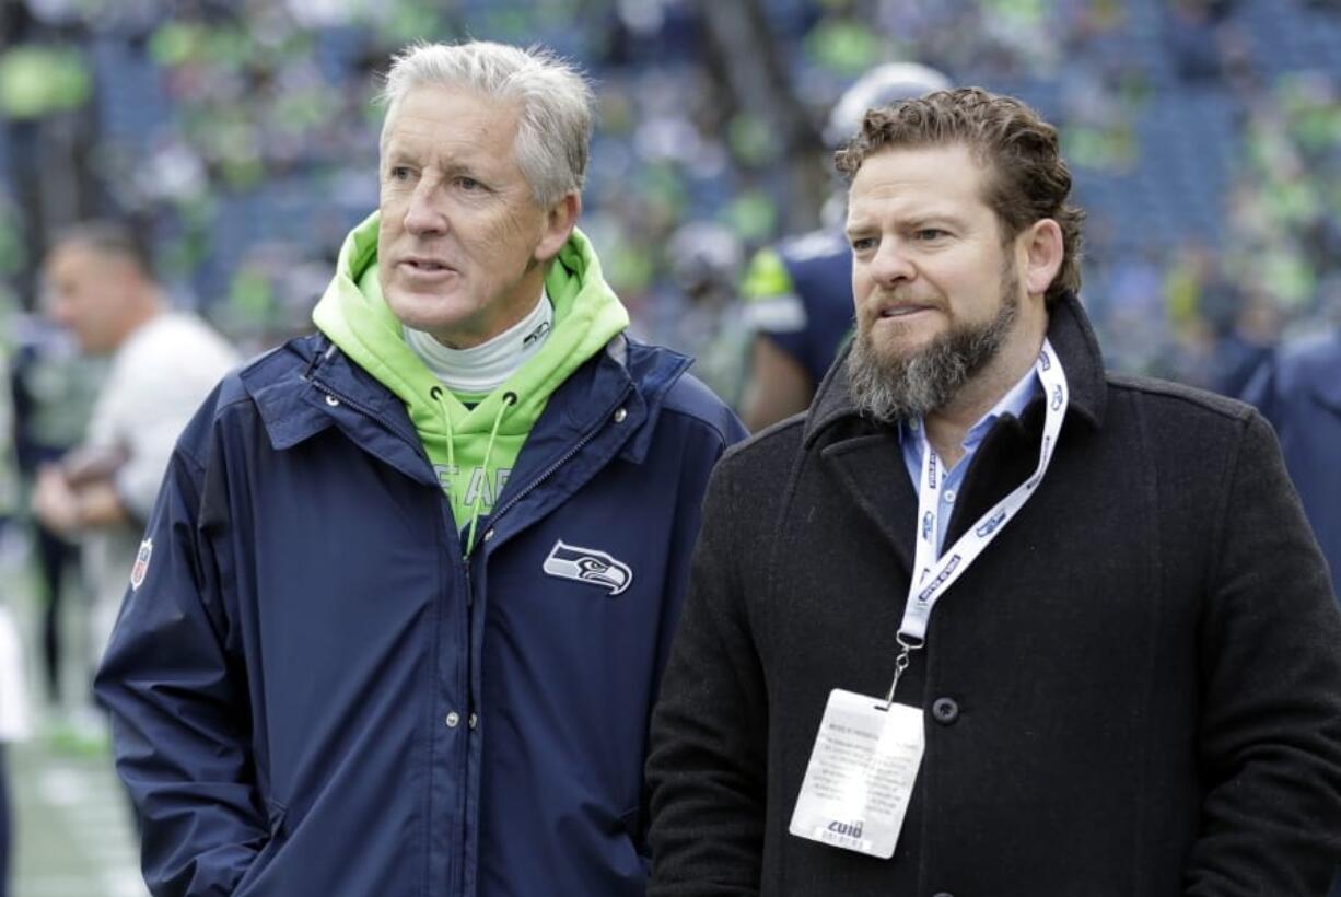
POLYGON ((126 593, 95 682, 111 712, 117 771, 141 814, 154 897, 233 893, 268 838, 245 684, 198 524, 202 483, 178 449, 141 547, 143 578, 126 593))

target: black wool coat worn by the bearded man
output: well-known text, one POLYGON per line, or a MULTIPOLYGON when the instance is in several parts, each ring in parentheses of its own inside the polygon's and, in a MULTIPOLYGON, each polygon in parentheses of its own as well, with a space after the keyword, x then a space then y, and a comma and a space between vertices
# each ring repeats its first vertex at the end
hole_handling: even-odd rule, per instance
MULTIPOLYGON (((839 361, 708 492, 653 715, 652 897, 1307 897, 1341 834, 1341 617, 1270 426, 1105 375, 1051 312, 1047 477, 941 598, 898 686, 927 751, 894 857, 787 833, 829 692, 884 696, 917 496, 839 361)), ((971 461, 953 540, 1038 461, 1042 400, 971 461)))

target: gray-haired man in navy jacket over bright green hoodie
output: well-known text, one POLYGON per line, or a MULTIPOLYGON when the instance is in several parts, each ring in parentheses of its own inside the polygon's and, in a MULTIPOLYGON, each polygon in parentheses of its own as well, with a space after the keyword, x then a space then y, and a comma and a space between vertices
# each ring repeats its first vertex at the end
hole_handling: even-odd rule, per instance
POLYGON ((744 436, 629 339, 593 97, 418 44, 319 333, 182 436, 98 676, 157 897, 645 893, 646 727, 744 436))

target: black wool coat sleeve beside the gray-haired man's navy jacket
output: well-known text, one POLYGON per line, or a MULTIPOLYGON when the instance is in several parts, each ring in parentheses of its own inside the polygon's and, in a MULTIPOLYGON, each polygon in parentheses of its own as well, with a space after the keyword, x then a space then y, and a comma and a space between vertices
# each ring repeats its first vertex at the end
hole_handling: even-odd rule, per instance
POLYGON ((759 893, 767 697, 744 610, 730 459, 712 475, 652 719, 649 897, 759 893))

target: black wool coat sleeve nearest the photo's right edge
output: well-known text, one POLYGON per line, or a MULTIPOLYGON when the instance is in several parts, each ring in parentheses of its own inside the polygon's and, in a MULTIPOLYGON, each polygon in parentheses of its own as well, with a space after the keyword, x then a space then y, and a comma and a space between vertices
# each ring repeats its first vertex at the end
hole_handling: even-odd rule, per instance
POLYGON ((1206 796, 1185 893, 1321 897, 1341 845, 1341 615, 1255 413, 1223 496, 1200 632, 1206 796))

